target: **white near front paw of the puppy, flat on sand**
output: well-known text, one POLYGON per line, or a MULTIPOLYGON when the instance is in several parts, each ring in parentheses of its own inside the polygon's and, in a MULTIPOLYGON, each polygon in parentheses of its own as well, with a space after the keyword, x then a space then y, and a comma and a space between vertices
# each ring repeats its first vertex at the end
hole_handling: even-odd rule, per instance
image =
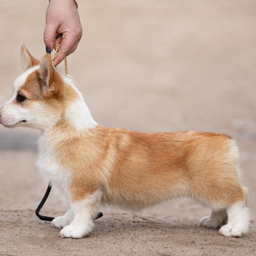
POLYGON ((68 225, 60 231, 61 238, 83 238, 91 233, 93 225, 68 225))

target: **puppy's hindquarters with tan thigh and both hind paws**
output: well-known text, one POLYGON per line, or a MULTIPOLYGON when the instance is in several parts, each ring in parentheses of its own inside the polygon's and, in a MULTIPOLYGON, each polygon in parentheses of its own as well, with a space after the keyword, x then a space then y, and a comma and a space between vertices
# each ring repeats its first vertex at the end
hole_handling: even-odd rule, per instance
POLYGON ((193 196, 213 209, 208 217, 200 220, 202 226, 221 227, 220 234, 240 237, 248 230, 249 209, 246 207, 246 188, 240 181, 238 148, 234 140, 218 143, 223 145, 216 150, 216 156, 205 159, 208 169, 203 170, 204 165, 198 169, 203 174, 202 181, 198 182, 199 176, 194 176, 193 196))

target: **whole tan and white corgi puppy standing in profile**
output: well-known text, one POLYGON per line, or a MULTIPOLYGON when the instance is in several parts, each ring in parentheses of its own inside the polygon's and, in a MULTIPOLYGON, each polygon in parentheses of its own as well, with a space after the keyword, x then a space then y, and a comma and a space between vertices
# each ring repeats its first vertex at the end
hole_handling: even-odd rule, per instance
POLYGON ((94 228, 101 204, 130 210, 188 197, 212 208, 200 224, 241 237, 249 226, 238 147, 209 132, 133 132, 98 125, 73 81, 60 75, 50 54, 41 62, 21 47, 24 72, 0 107, 5 127, 41 130, 37 166, 69 202, 52 225, 62 238, 82 238, 94 228))

